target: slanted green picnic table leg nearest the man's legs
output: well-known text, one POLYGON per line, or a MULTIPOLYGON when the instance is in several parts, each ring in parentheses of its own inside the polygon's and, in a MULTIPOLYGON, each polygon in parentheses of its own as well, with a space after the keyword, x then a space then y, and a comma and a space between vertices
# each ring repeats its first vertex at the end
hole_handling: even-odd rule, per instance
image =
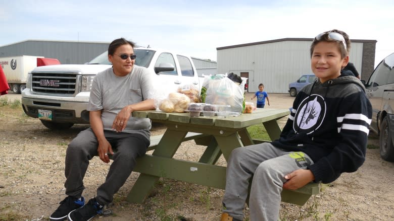
MULTIPOLYGON (((187 132, 184 131, 167 129, 152 155, 172 158, 186 134, 187 132)), ((138 167, 138 163, 135 167, 138 167)), ((163 177, 165 175, 166 172, 163 171, 163 177)), ((150 194, 159 178, 157 176, 140 174, 127 195, 127 201, 131 203, 142 203, 150 194)))

